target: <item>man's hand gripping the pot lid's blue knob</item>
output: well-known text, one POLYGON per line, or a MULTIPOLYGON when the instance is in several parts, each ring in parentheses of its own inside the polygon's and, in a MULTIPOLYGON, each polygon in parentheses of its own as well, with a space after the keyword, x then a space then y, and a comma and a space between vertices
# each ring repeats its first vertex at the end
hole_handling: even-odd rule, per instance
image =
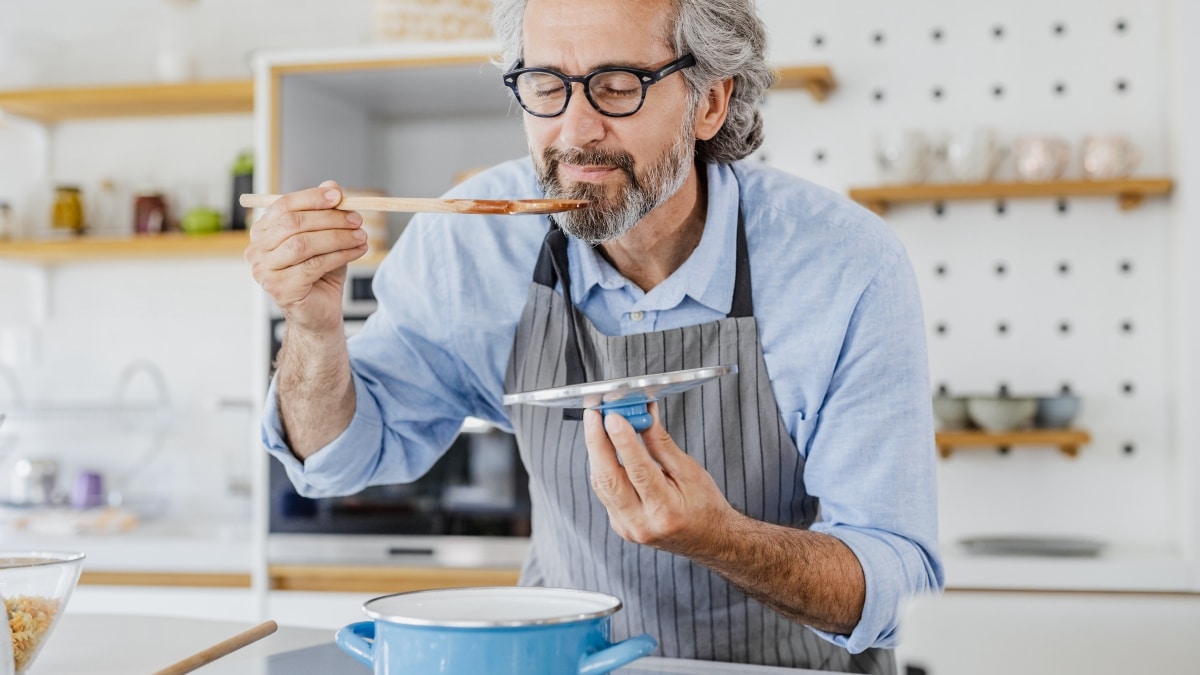
POLYGON ((656 402, 649 411, 654 424, 641 436, 620 414, 584 412, 592 490, 622 538, 689 557, 712 555, 740 514, 671 438, 656 402))

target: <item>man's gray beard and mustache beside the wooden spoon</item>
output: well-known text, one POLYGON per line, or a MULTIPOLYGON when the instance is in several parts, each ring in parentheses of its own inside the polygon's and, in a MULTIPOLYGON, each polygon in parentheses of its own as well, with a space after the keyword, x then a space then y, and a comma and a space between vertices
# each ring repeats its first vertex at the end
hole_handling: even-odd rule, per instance
MULTIPOLYGON (((637 172, 629 153, 605 150, 556 150, 547 148, 538 166, 538 184, 550 199, 587 199, 590 204, 580 210, 550 216, 563 232, 592 246, 611 241, 634 228, 655 208, 670 199, 683 187, 695 159, 695 144, 684 133, 686 125, 676 136, 666 153, 644 172, 637 172), (608 196, 607 187, 593 183, 563 185, 558 179, 558 165, 600 165, 619 168, 625 184, 608 196)), ((536 163, 536 162, 535 162, 536 163)))

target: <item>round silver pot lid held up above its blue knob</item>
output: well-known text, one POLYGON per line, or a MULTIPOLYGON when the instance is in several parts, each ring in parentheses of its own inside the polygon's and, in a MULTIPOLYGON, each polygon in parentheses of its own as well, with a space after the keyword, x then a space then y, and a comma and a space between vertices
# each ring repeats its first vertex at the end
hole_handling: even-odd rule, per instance
POLYGON ((679 394, 738 371, 737 364, 676 370, 660 375, 638 375, 505 394, 504 405, 529 404, 559 408, 599 408, 623 404, 649 402, 679 394))

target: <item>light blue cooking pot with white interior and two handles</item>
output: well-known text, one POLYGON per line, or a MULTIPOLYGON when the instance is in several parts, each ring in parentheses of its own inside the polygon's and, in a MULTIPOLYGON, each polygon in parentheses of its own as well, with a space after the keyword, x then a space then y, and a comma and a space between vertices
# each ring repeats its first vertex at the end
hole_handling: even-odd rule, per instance
POLYGON ((376 675, 601 675, 659 645, 649 635, 612 644, 620 599, 532 586, 437 589, 367 601, 373 621, 335 641, 376 675))

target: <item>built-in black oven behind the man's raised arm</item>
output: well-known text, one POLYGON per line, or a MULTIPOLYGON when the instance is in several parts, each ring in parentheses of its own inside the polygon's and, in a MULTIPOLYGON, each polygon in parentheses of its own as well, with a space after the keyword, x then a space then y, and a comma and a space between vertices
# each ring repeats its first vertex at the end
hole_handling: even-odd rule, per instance
MULTIPOLYGON (((376 309, 373 276, 373 267, 349 268, 347 338, 376 309)), ((276 307, 270 322, 274 364, 287 324, 276 307)), ((481 420, 468 419, 438 462, 408 484, 307 498, 295 491, 278 461, 269 466, 271 562, 517 567, 524 558, 529 477, 512 435, 481 420)))

